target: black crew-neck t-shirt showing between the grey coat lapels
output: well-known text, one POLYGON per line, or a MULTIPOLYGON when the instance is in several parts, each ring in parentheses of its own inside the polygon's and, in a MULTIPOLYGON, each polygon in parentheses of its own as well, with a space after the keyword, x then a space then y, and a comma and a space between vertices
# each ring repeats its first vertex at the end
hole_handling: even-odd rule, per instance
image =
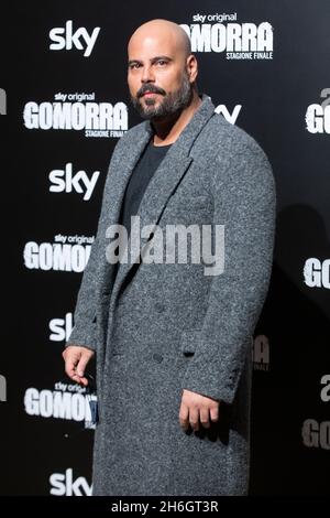
POLYGON ((119 220, 119 223, 124 225, 127 228, 128 236, 131 231, 131 216, 135 216, 138 214, 138 209, 147 184, 170 145, 172 144, 154 145, 151 140, 131 174, 124 193, 119 220))

